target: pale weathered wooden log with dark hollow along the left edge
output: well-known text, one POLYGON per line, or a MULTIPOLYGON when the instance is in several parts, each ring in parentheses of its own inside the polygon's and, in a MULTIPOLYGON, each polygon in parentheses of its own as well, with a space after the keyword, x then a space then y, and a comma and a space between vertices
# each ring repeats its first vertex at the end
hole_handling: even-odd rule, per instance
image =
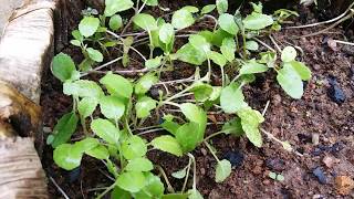
POLYGON ((48 198, 34 140, 43 140, 38 104, 53 55, 54 8, 53 1, 27 0, 0 41, 0 198, 48 198))

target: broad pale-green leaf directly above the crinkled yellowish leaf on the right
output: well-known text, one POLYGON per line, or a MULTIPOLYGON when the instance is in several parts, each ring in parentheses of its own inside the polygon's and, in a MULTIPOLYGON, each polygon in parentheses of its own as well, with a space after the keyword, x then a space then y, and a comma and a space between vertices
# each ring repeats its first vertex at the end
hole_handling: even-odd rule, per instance
POLYGON ((220 105, 223 112, 228 114, 233 114, 248 106, 241 86, 233 83, 223 87, 220 95, 220 105))

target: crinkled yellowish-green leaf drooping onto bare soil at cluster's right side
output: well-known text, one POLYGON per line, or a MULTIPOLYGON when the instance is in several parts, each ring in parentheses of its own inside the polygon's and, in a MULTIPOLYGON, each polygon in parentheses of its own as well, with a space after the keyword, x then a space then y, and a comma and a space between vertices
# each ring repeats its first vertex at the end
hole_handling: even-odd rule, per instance
POLYGON ((259 132, 259 124, 264 122, 263 116, 250 107, 242 108, 237 112, 241 118, 242 129, 247 138, 257 147, 262 146, 262 135, 259 132))

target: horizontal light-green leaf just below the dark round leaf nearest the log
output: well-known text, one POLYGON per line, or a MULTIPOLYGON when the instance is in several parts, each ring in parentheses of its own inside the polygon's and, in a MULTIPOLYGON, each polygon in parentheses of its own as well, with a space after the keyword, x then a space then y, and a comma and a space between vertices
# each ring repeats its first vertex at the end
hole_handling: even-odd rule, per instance
POLYGON ((103 96, 103 91, 93 81, 79 80, 75 82, 65 82, 63 85, 63 93, 65 95, 73 95, 79 97, 100 98, 103 96))

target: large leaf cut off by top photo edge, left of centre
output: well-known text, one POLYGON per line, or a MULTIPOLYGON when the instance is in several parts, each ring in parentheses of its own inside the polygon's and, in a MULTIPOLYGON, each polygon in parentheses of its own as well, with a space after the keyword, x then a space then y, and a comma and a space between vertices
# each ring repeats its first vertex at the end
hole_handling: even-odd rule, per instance
POLYGON ((122 12, 133 8, 134 2, 132 0, 105 0, 104 14, 111 17, 117 12, 122 12))

